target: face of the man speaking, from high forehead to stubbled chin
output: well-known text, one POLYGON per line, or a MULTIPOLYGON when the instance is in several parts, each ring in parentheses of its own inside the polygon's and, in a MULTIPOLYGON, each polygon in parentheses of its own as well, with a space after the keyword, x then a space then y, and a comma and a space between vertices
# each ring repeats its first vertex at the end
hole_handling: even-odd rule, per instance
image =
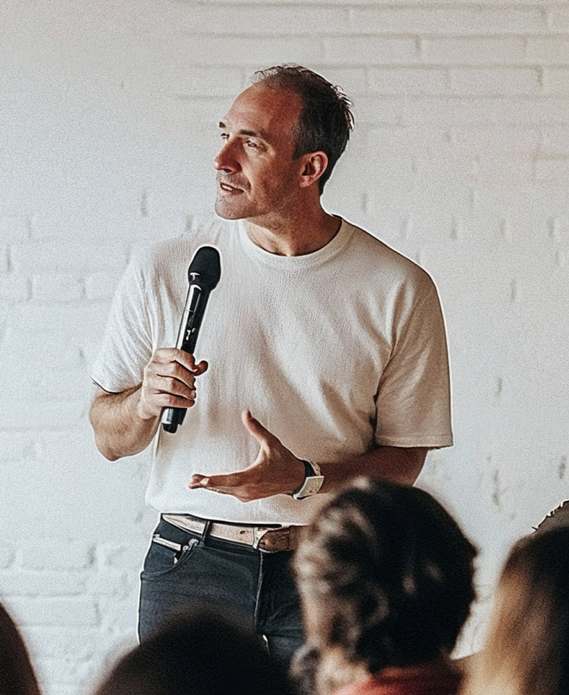
POLYGON ((298 193, 294 126, 300 98, 259 84, 241 92, 219 124, 223 147, 215 158, 216 213, 258 224, 286 215, 298 193))

